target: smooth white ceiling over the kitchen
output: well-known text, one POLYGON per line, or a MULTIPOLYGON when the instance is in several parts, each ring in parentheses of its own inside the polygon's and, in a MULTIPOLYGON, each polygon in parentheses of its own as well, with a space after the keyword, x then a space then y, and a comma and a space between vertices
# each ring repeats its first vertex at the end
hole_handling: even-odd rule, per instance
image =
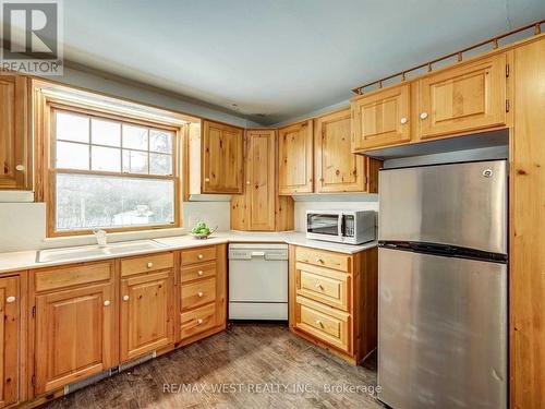
POLYGON ((69 0, 64 58, 271 124, 545 17, 545 0, 69 0), (262 117, 265 115, 266 117, 262 117))

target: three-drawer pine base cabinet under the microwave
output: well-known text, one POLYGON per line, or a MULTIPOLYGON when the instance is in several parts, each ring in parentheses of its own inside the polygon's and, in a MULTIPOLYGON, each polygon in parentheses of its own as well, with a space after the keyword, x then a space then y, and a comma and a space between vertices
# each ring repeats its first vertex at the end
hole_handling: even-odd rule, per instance
POLYGON ((377 344, 378 252, 290 245, 290 329, 352 363, 377 344))

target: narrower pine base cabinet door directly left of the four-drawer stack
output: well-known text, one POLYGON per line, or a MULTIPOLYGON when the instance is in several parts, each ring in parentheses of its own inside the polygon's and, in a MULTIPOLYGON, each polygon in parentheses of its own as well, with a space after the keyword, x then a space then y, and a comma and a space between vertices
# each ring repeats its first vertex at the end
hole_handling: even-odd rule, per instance
POLYGON ((172 270, 121 280, 121 361, 174 341, 172 270))

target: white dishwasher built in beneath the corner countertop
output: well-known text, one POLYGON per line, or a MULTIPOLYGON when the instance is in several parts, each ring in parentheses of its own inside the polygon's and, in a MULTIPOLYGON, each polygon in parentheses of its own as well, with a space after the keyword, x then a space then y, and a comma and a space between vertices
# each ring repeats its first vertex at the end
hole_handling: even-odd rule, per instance
POLYGON ((288 320, 287 244, 229 244, 229 320, 288 320))

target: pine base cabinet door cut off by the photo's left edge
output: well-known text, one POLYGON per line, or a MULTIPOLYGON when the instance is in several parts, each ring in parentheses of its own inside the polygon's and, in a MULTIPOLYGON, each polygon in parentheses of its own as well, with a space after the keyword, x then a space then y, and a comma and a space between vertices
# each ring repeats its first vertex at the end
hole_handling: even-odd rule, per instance
POLYGON ((20 278, 0 278, 0 408, 20 400, 21 293, 20 278))

